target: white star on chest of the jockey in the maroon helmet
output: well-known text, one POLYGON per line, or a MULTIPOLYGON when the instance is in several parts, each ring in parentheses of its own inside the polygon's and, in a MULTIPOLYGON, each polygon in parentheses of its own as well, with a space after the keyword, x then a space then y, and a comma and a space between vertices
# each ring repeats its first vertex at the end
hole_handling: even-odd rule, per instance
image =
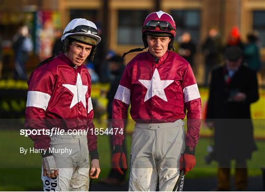
POLYGON ((174 80, 161 80, 158 69, 155 69, 151 80, 139 79, 138 81, 147 88, 144 102, 155 95, 160 97, 162 100, 167 101, 164 89, 174 82, 174 80))

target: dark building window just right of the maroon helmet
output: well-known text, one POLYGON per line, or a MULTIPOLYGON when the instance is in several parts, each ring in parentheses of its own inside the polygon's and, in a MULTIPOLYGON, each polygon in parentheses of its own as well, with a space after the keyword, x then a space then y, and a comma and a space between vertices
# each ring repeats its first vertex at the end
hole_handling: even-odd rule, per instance
POLYGON ((200 39, 200 25, 201 25, 201 11, 200 10, 171 10, 171 16, 176 22, 176 38, 184 32, 191 35, 194 43, 199 43, 200 39))

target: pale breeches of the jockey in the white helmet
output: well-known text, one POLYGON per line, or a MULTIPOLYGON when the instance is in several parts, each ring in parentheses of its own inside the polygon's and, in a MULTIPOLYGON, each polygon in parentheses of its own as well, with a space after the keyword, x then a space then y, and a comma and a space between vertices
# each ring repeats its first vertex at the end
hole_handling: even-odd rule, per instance
POLYGON ((53 153, 59 175, 52 179, 43 176, 44 191, 88 191, 89 151, 86 135, 56 135, 51 138, 51 148, 72 149, 69 153, 53 153))

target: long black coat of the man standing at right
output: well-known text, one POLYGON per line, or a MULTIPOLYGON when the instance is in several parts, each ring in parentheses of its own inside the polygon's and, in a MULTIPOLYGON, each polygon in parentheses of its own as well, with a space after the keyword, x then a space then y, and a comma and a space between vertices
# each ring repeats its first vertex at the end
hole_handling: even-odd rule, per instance
POLYGON ((256 149, 250 117, 250 104, 259 99, 256 73, 241 65, 230 83, 227 77, 226 66, 212 71, 207 120, 214 122, 215 159, 248 159, 256 149), (246 94, 244 102, 231 101, 237 92, 246 94))

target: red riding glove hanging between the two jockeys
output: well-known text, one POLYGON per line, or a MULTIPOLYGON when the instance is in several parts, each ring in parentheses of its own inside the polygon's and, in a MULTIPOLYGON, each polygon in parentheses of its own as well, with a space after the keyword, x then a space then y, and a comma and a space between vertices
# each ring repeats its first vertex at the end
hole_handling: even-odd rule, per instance
POLYGON ((122 151, 121 145, 115 145, 112 149, 112 166, 115 171, 119 171, 121 174, 124 174, 121 168, 127 169, 126 157, 122 151))

